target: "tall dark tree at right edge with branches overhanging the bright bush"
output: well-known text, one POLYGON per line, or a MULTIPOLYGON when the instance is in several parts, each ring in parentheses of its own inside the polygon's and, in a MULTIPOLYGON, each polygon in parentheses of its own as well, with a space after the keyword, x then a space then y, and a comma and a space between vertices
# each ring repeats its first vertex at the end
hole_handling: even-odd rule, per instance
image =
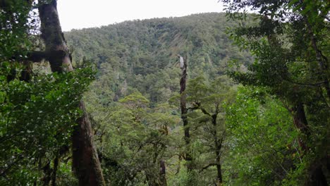
POLYGON ((230 18, 243 22, 247 16, 240 12, 252 10, 259 20, 258 25, 242 23, 231 32, 236 44, 256 58, 247 73, 231 75, 244 85, 267 87, 288 105, 300 131, 301 158, 308 172, 305 185, 327 185, 324 173, 329 171, 323 170, 329 170, 324 166, 329 162, 329 1, 223 2, 230 18))

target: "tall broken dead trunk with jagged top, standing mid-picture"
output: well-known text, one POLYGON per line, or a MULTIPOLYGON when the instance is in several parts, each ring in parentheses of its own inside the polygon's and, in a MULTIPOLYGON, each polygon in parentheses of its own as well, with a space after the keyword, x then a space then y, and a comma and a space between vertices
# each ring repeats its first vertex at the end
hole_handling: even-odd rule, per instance
MULTIPOLYGON (((179 56, 179 58, 182 58, 179 56)), ((187 84, 187 58, 181 59, 183 60, 183 65, 181 65, 181 79, 180 79, 180 108, 181 108, 181 119, 183 121, 183 129, 184 129, 184 140, 185 140, 185 145, 187 147, 185 151, 185 161, 187 161, 187 168, 188 171, 191 171, 192 168, 192 161, 193 157, 190 154, 190 128, 188 127, 188 109, 187 109, 187 101, 186 101, 186 95, 185 95, 185 86, 187 84)))

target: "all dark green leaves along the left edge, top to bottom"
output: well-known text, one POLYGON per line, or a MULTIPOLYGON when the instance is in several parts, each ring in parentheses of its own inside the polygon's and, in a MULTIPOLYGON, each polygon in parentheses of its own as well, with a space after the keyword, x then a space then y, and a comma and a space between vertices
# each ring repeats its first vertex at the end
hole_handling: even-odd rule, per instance
MULTIPOLYGON (((78 103, 94 80, 92 68, 44 74, 23 65, 35 49, 34 5, 0 4, 0 185, 41 184, 49 162, 70 147, 78 103), (21 80, 23 71, 30 80, 21 80)), ((58 171, 63 184, 75 182, 69 164, 58 171)))

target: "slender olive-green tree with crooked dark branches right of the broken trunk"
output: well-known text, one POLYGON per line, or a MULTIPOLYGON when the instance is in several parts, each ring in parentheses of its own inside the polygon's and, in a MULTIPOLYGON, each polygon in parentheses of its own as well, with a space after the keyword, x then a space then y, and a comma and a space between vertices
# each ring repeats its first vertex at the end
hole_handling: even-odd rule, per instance
POLYGON ((223 173, 221 169, 221 154, 226 135, 224 104, 229 104, 235 93, 230 89, 231 83, 228 77, 219 77, 207 83, 203 76, 196 77, 188 82, 186 90, 189 109, 195 111, 192 124, 200 128, 197 140, 204 145, 201 154, 209 156, 202 162, 200 171, 212 166, 216 167, 216 185, 223 184, 223 173))

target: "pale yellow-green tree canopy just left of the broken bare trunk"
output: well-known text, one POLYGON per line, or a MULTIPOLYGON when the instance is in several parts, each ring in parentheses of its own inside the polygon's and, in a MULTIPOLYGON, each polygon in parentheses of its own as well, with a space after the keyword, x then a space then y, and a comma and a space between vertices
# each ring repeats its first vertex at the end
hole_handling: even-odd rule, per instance
MULTIPOLYGON (((151 109, 149 100, 133 92, 106 109, 97 120, 97 147, 104 175, 114 185, 158 185, 159 161, 173 156, 171 135, 180 119, 168 104, 151 109), (104 117, 106 116, 106 117, 104 117), (101 119, 103 118, 103 120, 101 119)), ((97 117, 93 112, 93 118, 97 117)))

